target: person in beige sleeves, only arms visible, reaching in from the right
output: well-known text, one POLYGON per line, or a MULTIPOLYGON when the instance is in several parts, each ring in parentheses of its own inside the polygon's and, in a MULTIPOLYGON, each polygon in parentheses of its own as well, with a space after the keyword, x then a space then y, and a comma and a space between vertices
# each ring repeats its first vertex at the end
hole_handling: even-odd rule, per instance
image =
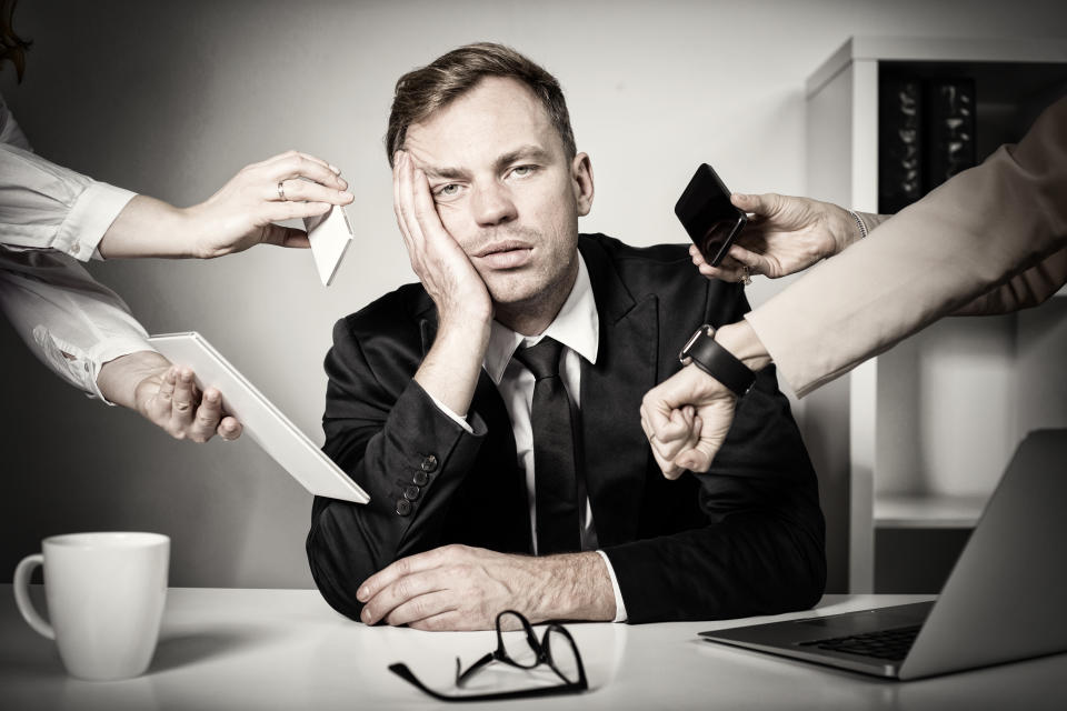
MULTIPOLYGON (((715 336, 747 368, 774 360, 804 397, 941 317, 1008 313, 1067 283, 1067 97, 1018 144, 893 217, 775 194, 734 200, 760 218, 745 238, 752 249, 731 248, 738 261, 726 270, 695 257, 706 276, 737 279, 742 266, 781 277, 831 257, 715 336)), ((734 401, 696 368, 648 392, 645 430, 658 434, 651 444, 667 477, 711 465, 734 401), (674 427, 671 413, 687 408, 704 414, 701 431, 674 427)))

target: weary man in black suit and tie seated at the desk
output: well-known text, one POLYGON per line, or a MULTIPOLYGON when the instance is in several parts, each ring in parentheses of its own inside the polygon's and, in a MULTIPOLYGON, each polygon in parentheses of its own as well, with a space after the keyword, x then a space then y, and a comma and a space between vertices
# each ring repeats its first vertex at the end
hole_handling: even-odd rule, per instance
POLYGON ((641 394, 678 370, 694 322, 748 304, 682 246, 578 234, 592 169, 555 78, 497 44, 449 52, 397 83, 387 150, 421 283, 333 331, 325 450, 371 501, 315 501, 326 600, 435 630, 506 609, 647 622, 814 604, 817 483, 771 370, 715 469, 659 475, 641 394))

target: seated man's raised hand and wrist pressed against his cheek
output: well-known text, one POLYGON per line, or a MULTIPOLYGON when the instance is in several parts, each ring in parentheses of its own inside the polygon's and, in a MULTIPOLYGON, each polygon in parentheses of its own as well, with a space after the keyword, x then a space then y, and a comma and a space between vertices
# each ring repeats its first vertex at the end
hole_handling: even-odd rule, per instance
POLYGON ((405 151, 392 170, 393 210, 411 268, 437 306, 438 330, 415 380, 466 415, 489 343, 492 300, 459 243, 441 224, 426 174, 405 151))

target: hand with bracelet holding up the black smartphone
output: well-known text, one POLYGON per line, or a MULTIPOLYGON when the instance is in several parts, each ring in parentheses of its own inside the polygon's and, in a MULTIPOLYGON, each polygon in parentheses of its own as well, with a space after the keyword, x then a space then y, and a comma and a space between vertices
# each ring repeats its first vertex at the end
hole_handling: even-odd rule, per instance
POLYGON ((852 217, 829 202, 776 193, 734 194, 730 200, 754 217, 719 267, 708 264, 696 246, 689 248, 692 263, 709 279, 742 281, 742 267, 778 279, 837 254, 860 237, 852 217))

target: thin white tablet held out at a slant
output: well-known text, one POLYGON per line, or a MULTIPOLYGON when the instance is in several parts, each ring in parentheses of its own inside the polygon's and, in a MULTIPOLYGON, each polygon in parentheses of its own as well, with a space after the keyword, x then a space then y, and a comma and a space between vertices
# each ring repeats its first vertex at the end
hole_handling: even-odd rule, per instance
POLYGON ((307 435, 238 372, 208 341, 197 333, 163 333, 148 339, 176 365, 188 365, 201 390, 218 388, 223 409, 245 428, 281 468, 313 494, 367 503, 370 497, 341 468, 322 453, 307 435))

